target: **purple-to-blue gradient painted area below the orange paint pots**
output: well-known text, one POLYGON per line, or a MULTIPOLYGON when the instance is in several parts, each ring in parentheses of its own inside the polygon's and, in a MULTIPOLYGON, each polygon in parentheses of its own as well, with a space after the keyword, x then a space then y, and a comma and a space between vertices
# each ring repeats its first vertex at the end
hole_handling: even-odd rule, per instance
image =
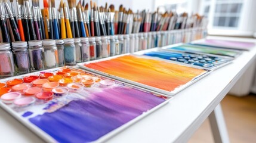
POLYGON ((166 101, 122 85, 79 93, 51 113, 29 119, 58 142, 92 142, 166 101))

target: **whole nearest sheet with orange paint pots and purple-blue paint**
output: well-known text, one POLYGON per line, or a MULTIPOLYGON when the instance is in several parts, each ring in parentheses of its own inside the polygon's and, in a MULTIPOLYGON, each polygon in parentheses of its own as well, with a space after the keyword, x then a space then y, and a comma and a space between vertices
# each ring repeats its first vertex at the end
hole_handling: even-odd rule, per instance
POLYGON ((0 82, 0 106, 47 142, 102 142, 171 99, 71 67, 0 82))

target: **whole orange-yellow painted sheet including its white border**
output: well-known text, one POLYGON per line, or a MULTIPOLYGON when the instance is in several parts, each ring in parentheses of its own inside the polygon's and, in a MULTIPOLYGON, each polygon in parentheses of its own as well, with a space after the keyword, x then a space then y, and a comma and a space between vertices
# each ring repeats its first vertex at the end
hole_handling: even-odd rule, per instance
POLYGON ((211 70, 155 57, 124 54, 78 64, 79 67, 166 95, 174 95, 211 70))

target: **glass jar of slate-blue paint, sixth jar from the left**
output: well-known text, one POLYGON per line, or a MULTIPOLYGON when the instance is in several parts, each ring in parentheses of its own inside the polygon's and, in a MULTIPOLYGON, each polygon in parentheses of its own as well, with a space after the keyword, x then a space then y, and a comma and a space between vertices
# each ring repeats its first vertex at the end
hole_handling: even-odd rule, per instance
POLYGON ((76 47, 74 39, 72 38, 64 39, 64 60, 65 65, 76 65, 76 47))

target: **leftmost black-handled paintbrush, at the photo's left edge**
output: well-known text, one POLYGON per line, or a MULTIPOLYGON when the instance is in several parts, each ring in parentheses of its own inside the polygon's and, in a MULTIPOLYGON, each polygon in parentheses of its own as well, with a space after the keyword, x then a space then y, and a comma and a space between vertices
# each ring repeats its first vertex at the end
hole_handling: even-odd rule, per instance
POLYGON ((2 4, 2 0, 0 1, 0 11, 1 11, 0 27, 2 30, 2 41, 10 43, 10 38, 8 35, 8 29, 7 29, 7 25, 6 25, 6 19, 5 19, 5 8, 4 8, 4 5, 2 4))

